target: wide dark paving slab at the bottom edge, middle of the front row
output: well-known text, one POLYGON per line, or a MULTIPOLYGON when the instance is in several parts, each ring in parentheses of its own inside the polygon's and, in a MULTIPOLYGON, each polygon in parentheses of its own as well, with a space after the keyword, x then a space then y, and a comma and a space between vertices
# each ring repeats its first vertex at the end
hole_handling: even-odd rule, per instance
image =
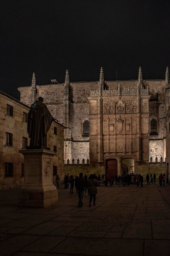
POLYGON ((50 252, 75 255, 107 255, 107 256, 143 256, 144 240, 114 238, 73 238, 69 237, 50 252), (70 247, 70 245, 72 245, 70 247), (78 246, 77 246, 78 245, 78 246), (69 248, 69 251, 68 251, 69 248), (132 249, 133 248, 133 249, 132 249))

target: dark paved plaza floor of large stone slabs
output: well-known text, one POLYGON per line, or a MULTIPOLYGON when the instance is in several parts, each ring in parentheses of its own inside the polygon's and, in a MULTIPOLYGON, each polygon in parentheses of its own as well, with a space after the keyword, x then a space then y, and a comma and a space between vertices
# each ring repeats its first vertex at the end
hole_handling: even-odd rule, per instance
POLYGON ((59 189, 50 208, 20 208, 0 191, 0 255, 170 256, 170 186, 98 187, 96 205, 59 189))

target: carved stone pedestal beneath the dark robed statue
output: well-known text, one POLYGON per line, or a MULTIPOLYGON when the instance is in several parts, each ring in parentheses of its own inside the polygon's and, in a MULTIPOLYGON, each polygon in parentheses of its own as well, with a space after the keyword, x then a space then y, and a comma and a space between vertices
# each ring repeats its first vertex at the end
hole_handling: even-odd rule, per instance
POLYGON ((19 192, 20 207, 49 207, 58 202, 58 190, 52 183, 52 157, 46 149, 20 150, 24 155, 24 186, 19 192))

